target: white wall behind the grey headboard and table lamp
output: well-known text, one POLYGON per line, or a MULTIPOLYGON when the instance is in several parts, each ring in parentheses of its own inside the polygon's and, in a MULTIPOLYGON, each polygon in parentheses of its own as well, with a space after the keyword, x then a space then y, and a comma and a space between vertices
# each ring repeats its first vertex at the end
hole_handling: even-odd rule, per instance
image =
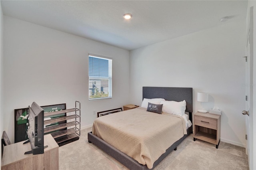
POLYGON ((219 107, 221 140, 245 146, 245 47, 244 20, 135 49, 130 99, 141 105, 143 86, 192 87, 193 113, 219 107), (196 101, 197 92, 209 93, 209 102, 196 101))

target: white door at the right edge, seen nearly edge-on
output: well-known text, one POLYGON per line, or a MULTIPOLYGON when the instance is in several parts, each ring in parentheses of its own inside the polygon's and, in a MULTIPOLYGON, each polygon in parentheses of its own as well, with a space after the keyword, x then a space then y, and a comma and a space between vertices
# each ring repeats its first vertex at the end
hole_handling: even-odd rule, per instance
POLYGON ((243 114, 246 115, 246 134, 247 134, 247 143, 246 143, 246 154, 248 155, 249 168, 254 169, 254 151, 255 148, 253 146, 255 141, 254 136, 254 126, 253 126, 253 117, 254 117, 254 105, 253 101, 256 101, 254 93, 256 93, 255 80, 256 74, 254 74, 254 61, 253 61, 253 10, 250 10, 250 22, 248 26, 248 34, 247 34, 247 45, 246 45, 246 53, 247 53, 247 62, 246 62, 246 111, 243 111, 243 114))

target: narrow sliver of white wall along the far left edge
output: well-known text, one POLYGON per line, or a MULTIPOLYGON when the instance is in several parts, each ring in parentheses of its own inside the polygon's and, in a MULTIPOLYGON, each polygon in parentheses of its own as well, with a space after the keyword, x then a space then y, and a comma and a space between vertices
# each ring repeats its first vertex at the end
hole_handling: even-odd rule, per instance
MULTIPOLYGON (((3 12, 2 12, 2 4, 0 3, 0 132, 2 135, 2 131, 4 130, 4 111, 3 111, 3 69, 4 69, 4 48, 3 48, 3 35, 4 35, 4 19, 3 19, 3 12)), ((2 147, 0 148, 0 152, 2 151, 2 147)), ((1 152, 2 153, 2 152, 1 152)), ((1 165, 2 162, 0 162, 1 165)))

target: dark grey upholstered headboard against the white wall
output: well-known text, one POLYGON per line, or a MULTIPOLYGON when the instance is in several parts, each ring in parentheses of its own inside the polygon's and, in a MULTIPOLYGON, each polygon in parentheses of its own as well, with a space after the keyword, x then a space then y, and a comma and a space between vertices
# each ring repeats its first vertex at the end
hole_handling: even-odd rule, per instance
POLYGON ((193 89, 190 87, 142 87, 142 100, 163 98, 168 101, 186 101, 186 112, 193 112, 193 89))

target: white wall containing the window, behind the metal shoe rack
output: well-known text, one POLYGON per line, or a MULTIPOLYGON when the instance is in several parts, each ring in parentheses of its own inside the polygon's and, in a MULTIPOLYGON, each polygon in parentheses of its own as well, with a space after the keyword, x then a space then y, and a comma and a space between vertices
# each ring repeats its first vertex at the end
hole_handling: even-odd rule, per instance
MULTIPOLYGON (((4 16, 5 130, 14 141, 14 109, 81 102, 81 126, 93 111, 129 104, 129 51, 4 16), (88 53, 112 57, 112 99, 88 101, 88 53)), ((2 80, 1 80, 2 82, 2 80)))

